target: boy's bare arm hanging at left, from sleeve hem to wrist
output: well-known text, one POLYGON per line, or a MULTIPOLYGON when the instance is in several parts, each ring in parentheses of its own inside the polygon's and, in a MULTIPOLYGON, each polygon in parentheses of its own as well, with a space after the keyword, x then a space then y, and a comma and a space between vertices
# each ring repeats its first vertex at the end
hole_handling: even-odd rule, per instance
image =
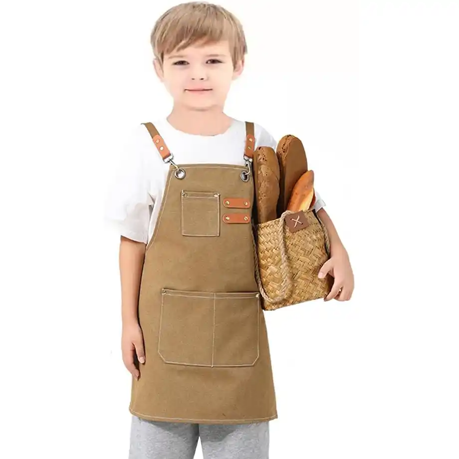
POLYGON ((140 279, 145 260, 144 242, 120 238, 121 317, 124 326, 138 323, 140 279))

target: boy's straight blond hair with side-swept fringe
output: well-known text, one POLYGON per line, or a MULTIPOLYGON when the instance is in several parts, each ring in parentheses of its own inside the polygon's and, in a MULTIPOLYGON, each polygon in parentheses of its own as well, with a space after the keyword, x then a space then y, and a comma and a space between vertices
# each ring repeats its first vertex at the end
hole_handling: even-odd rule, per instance
POLYGON ((150 36, 153 54, 161 65, 165 54, 201 40, 229 40, 233 66, 247 52, 239 20, 223 6, 206 1, 181 3, 168 9, 156 21, 150 36))

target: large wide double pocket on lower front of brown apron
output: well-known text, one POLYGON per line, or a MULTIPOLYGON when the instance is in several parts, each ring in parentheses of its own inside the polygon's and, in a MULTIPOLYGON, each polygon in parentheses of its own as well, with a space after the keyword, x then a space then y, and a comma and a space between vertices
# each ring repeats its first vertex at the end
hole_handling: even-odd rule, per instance
POLYGON ((166 363, 253 366, 259 357, 258 292, 162 289, 158 353, 166 363))

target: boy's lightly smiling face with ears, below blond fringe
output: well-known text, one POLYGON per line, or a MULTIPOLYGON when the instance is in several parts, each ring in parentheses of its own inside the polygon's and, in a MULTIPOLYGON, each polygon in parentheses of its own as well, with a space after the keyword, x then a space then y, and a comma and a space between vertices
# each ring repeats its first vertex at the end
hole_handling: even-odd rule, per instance
POLYGON ((233 68, 229 41, 195 43, 154 61, 156 74, 174 99, 193 110, 223 107, 231 82, 242 72, 243 60, 233 68))

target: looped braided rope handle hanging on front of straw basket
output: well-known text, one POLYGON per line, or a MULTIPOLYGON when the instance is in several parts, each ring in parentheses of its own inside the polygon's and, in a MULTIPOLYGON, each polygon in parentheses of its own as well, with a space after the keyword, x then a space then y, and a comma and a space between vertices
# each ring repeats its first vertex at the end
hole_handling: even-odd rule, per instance
MULTIPOLYGON (((266 293, 265 289, 263 288, 263 284, 261 282, 261 276, 260 276, 260 267, 258 263, 258 248, 255 242, 255 236, 254 236, 254 231, 252 230, 252 241, 253 241, 253 253, 254 253, 254 261, 255 261, 255 277, 256 277, 256 282, 258 284, 258 289, 260 290, 261 296, 263 299, 271 304, 277 304, 283 301, 291 292, 292 287, 293 287, 293 281, 292 281, 292 273, 291 273, 291 268, 290 264, 288 263, 288 258, 287 258, 287 245, 285 242, 285 235, 284 235, 284 230, 285 230, 285 217, 289 214, 294 214, 293 211, 285 211, 282 213, 282 215, 279 218, 279 224, 277 227, 277 234, 279 235, 280 239, 280 257, 281 257, 281 275, 282 275, 282 287, 280 290, 280 294, 276 296, 275 298, 270 298, 268 294, 266 293)), ((254 229, 256 230, 256 227, 252 225, 254 229)))

